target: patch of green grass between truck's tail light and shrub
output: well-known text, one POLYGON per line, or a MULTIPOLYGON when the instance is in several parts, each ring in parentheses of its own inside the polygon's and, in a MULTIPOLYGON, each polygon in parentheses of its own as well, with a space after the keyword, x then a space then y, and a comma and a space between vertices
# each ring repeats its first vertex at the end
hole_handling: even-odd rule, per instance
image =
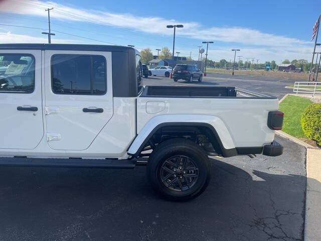
POLYGON ((312 104, 311 100, 293 95, 288 95, 280 103, 279 110, 284 113, 283 132, 293 137, 306 139, 301 128, 301 114, 309 104, 312 104))

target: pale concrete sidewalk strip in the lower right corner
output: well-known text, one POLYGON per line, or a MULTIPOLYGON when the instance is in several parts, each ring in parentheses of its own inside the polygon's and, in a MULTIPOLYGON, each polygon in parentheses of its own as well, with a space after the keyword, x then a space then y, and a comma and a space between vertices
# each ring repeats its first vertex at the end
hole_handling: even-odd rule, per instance
POLYGON ((304 240, 321 240, 321 150, 307 148, 304 240))

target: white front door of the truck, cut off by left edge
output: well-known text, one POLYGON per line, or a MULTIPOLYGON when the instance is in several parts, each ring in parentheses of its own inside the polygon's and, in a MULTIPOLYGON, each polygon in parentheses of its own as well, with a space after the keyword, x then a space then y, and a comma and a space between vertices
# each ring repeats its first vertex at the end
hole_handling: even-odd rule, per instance
POLYGON ((0 103, 0 148, 36 148, 44 135, 41 50, 0 50, 0 103))

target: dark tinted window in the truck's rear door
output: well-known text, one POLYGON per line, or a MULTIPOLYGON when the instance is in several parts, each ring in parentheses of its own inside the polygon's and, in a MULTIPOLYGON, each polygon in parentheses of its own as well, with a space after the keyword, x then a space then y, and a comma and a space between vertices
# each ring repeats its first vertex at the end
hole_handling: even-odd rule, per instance
POLYGON ((107 91, 106 59, 100 55, 54 55, 51 76, 56 94, 102 95, 107 91))

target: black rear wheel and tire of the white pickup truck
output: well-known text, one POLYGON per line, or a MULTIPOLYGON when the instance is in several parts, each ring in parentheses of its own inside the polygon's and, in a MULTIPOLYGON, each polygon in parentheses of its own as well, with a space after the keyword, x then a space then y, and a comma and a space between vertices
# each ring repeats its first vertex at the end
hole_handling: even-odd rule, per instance
POLYGON ((183 138, 158 144, 149 157, 146 170, 153 189, 174 201, 197 197, 211 178, 210 162, 204 150, 183 138))

